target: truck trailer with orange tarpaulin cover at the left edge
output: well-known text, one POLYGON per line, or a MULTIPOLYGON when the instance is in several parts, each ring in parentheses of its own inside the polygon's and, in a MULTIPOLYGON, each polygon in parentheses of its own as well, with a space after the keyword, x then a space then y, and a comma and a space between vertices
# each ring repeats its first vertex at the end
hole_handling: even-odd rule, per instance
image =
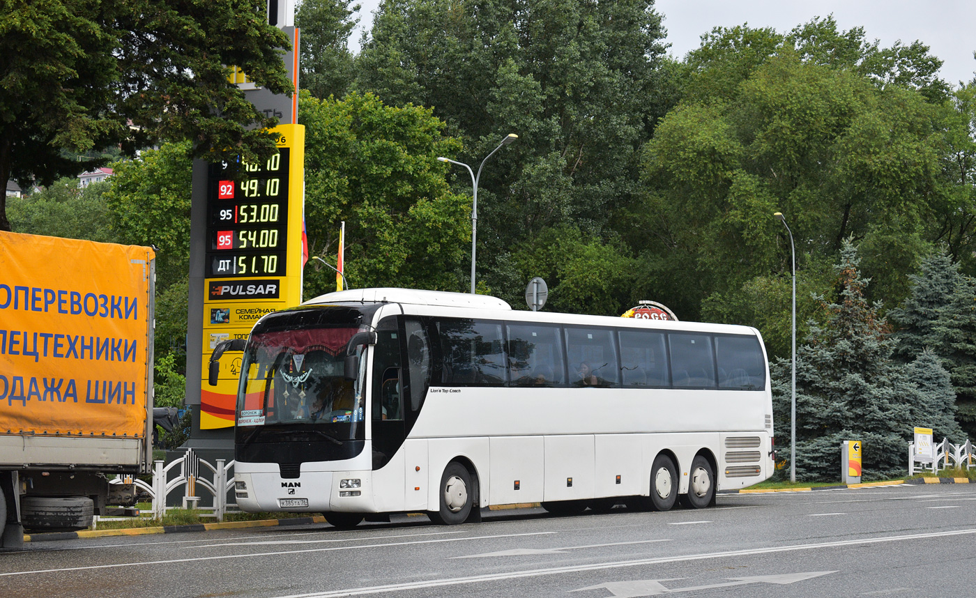
POLYGON ((152 461, 155 254, 0 232, 0 547, 133 504, 152 461))

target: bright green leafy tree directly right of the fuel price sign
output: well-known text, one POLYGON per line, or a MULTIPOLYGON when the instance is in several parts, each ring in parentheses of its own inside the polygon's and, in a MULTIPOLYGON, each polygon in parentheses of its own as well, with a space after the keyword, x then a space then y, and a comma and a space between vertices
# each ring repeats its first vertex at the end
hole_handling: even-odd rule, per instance
MULTIPOLYGON (((305 92, 305 223, 309 256, 335 263, 346 221, 351 286, 464 290, 470 200, 451 193, 446 166, 460 143, 427 108, 385 105, 371 94, 316 100, 305 92)), ((305 297, 335 289, 312 260, 305 297)))

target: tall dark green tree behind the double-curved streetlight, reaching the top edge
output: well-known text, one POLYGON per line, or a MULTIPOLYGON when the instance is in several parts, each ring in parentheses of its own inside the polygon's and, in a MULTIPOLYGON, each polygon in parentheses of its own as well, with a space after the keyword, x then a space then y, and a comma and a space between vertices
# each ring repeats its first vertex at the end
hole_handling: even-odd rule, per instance
MULTIPOLYGON (((515 254, 550 228, 578 226, 599 245, 616 243, 615 216, 637 191, 637 150, 680 89, 681 68, 658 68, 664 29, 652 7, 651 0, 381 5, 356 60, 356 89, 394 105, 431 106, 464 140, 465 151, 448 157, 474 168, 506 135, 519 136, 479 179, 478 272, 487 288, 524 288, 532 274, 517 269, 525 260, 515 254)), ((454 180, 469 189, 466 172, 454 180)))

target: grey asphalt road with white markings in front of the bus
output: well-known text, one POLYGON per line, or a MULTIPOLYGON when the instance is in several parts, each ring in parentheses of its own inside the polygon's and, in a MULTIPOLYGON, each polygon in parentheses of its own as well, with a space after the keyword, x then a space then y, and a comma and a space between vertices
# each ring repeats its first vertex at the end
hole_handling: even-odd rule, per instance
POLYGON ((327 524, 31 542, 0 553, 19 598, 382 595, 970 596, 976 486, 720 495, 665 513, 486 512, 431 525, 327 524))

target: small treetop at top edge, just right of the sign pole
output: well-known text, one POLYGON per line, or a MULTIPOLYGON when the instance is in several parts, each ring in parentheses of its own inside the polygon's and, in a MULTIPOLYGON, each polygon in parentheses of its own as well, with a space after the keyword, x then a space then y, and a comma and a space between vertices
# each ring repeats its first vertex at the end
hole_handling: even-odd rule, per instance
POLYGON ((352 82, 352 53, 349 35, 359 11, 352 0, 303 0, 295 13, 302 30, 302 73, 299 84, 319 100, 342 98, 352 82))

